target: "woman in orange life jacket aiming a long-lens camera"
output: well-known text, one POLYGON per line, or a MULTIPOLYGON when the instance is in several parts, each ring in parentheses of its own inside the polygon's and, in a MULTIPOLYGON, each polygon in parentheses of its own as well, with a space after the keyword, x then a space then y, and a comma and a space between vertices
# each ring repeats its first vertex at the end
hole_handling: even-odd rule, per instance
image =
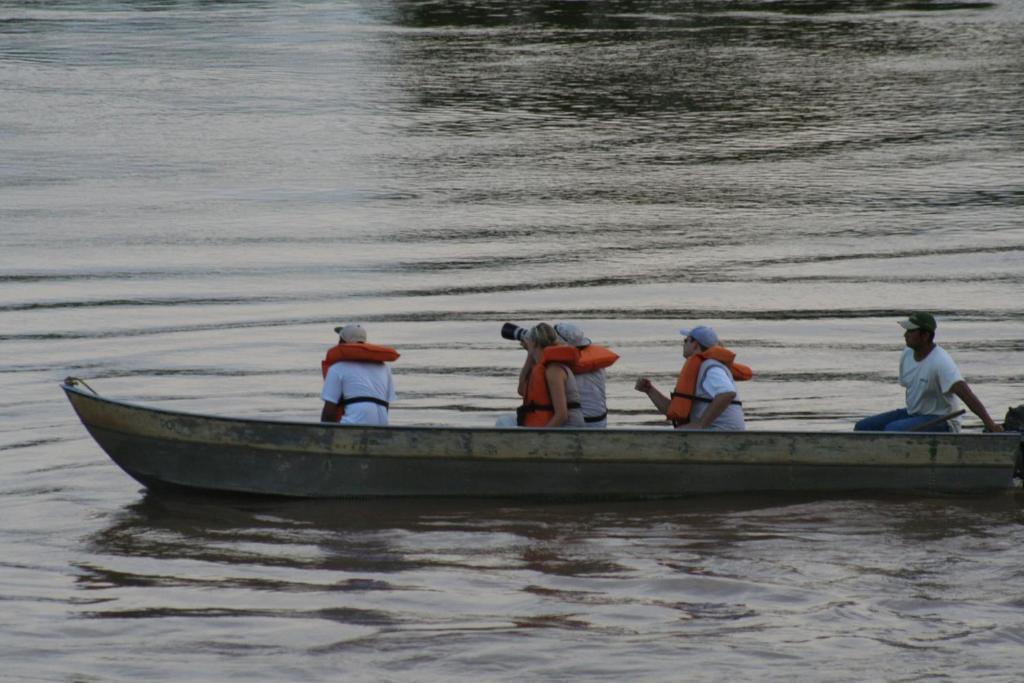
MULTIPOLYGON (((526 349, 526 360, 519 371, 519 395, 522 405, 516 409, 519 427, 583 427, 580 388, 571 366, 580 351, 561 343, 547 323, 529 331, 507 323, 502 330, 507 339, 518 339, 526 349)), ((505 420, 499 426, 510 426, 505 420)))

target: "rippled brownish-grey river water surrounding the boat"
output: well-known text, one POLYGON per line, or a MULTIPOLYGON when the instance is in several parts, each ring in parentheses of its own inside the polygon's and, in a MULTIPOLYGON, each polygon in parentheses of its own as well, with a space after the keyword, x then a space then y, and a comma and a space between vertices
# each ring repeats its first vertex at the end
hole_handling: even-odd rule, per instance
POLYGON ((1019 0, 11 0, 0 102, 0 680, 1019 680, 1019 492, 155 496, 58 389, 315 420, 359 322, 394 423, 489 425, 501 324, 574 321, 655 426, 705 323, 752 428, 845 430, 927 309, 1001 419, 1019 0))

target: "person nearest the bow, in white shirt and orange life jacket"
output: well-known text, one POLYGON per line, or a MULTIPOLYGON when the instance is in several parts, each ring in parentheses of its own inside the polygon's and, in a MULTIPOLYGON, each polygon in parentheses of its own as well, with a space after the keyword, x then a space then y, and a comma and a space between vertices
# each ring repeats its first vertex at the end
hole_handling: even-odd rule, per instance
POLYGON ((390 346, 367 343, 367 332, 358 325, 334 329, 338 344, 321 364, 324 409, 321 422, 343 425, 386 425, 388 409, 395 399, 391 369, 385 365, 398 358, 390 346))

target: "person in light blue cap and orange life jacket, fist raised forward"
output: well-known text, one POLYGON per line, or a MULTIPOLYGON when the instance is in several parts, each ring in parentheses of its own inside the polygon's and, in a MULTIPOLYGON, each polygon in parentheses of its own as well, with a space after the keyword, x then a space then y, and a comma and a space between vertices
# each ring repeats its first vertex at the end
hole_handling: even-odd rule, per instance
POLYGON ((736 354, 719 343, 718 334, 710 327, 697 326, 679 334, 684 337, 686 362, 671 397, 646 377, 637 380, 636 390, 647 394, 676 429, 745 430, 735 381, 751 379, 754 371, 735 362, 736 354))

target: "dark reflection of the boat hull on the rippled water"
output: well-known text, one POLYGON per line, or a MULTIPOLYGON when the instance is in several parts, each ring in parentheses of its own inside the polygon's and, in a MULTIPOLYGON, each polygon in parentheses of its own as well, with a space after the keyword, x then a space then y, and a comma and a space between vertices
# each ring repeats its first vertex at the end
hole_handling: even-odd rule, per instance
MULTIPOLYGON (((624 570, 611 559, 611 547, 606 549, 610 555, 582 552, 597 540, 652 536, 674 539, 701 553, 728 554, 744 542, 792 535, 800 526, 842 536, 879 525, 907 541, 985 538, 1000 517, 1004 523, 1014 523, 1022 509, 1024 495, 1019 490, 978 497, 744 495, 532 505, 433 499, 291 501, 146 492, 91 536, 87 550, 98 556, 380 574, 472 565, 482 553, 497 562, 494 567, 581 575, 624 570), (484 538, 489 541, 480 546, 462 545, 484 538)), ((81 583, 102 587, 176 581, 119 577, 93 567, 81 583)), ((353 580, 336 588, 392 587, 353 580)))

